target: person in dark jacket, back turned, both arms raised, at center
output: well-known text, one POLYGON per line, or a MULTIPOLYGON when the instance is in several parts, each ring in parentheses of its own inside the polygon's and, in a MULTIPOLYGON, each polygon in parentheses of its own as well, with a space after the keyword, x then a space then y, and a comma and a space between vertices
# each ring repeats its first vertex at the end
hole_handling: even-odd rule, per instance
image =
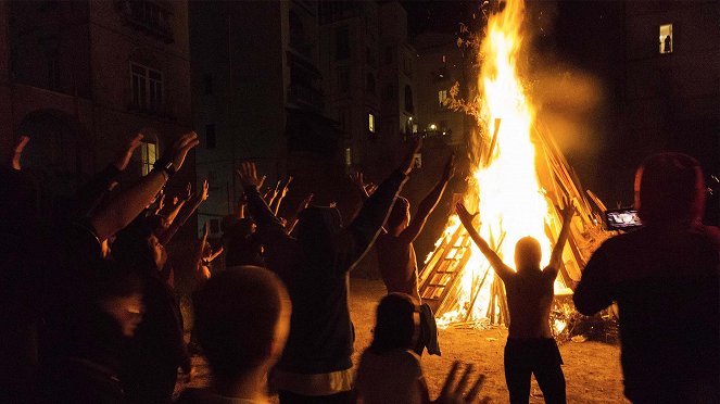
POLYGON ((298 223, 298 239, 285 232, 255 188, 247 190, 266 263, 285 281, 292 301, 290 336, 278 368, 324 374, 352 367, 348 273, 377 237, 406 178, 393 173, 344 228, 334 209, 305 210, 298 223))

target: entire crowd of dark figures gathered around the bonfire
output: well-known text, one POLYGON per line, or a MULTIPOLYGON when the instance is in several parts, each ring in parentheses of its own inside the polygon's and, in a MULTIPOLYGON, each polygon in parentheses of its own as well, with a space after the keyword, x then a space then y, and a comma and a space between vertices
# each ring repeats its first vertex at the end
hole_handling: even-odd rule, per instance
MULTIPOLYGON (((313 204, 313 194, 280 217, 292 178, 264 188, 262 173, 243 163, 237 176, 244 194, 224 224, 223 245, 213 249, 205 225, 201 239, 185 247, 191 262, 179 263, 166 247, 207 199, 209 185, 173 198, 164 189, 198 136, 177 138, 148 175, 117 191, 141 139, 128 139, 115 161, 52 212, 37 203, 38 184, 22 166, 29 137, 17 139, 0 168, 0 402, 169 403, 176 383, 195 374, 192 354, 204 355, 212 378, 205 388, 185 389, 178 403, 265 403, 275 393, 283 404, 488 401, 472 364, 455 363, 435 400, 421 366, 425 349, 439 355, 440 345, 418 293, 413 241, 454 175, 454 156, 413 217, 399 194, 420 141, 379 185, 354 175, 363 202, 345 220, 337 207, 313 204), (388 294, 353 370, 349 273, 376 240, 388 294), (215 268, 219 256, 224 265, 215 268), (194 285, 189 344, 174 288, 180 266, 191 268, 194 285)), ((644 227, 606 241, 574 291, 586 315, 618 304, 632 402, 720 402, 720 231, 703 225, 704 201, 697 161, 648 157, 635 178, 644 227)), ((462 203, 456 212, 507 290, 509 402, 528 403, 534 375, 545 402, 565 403, 548 316, 573 202, 559 209, 563 229, 545 268, 536 240, 518 241, 513 269, 479 236, 477 214, 462 203)))

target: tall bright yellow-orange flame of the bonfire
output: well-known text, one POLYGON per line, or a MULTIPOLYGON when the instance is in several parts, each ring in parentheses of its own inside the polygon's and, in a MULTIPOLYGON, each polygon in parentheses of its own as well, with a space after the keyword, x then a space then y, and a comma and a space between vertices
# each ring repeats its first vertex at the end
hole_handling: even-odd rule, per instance
MULTIPOLYGON (((538 178, 535 146, 531 140, 534 110, 518 74, 523 12, 522 0, 509 0, 505 9, 488 22, 487 36, 478 54, 481 137, 472 142, 477 150, 471 153, 478 156, 473 162, 477 188, 464 197, 468 210, 479 210, 480 235, 491 245, 503 240, 497 253, 511 267, 515 266, 515 244, 526 236, 540 242, 541 265, 547 264, 551 241, 545 233, 545 222, 546 218, 557 220, 538 178)), ((557 226, 557 222, 553 225, 557 226)), ((451 217, 444 237, 453 233, 457 226, 457 217, 451 217)), ((555 226, 552 227, 557 228, 555 226)), ((467 318, 488 318, 494 272, 475 244, 471 251, 457 295, 458 308, 439 319, 441 327, 467 318), (483 277, 485 280, 470 308, 473 286, 483 277), (472 311, 469 315, 468 310, 472 311)), ((557 288, 564 286, 559 283, 557 288)))

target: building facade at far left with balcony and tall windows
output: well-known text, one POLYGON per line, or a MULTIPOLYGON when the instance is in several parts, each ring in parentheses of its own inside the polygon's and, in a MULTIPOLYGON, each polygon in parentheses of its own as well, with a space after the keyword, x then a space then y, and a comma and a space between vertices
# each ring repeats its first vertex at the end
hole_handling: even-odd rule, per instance
MULTIPOLYGON (((3 1, 0 149, 29 135, 24 169, 72 193, 138 131, 146 174, 190 130, 187 1, 3 1)), ((194 162, 169 187, 194 182, 194 162)))

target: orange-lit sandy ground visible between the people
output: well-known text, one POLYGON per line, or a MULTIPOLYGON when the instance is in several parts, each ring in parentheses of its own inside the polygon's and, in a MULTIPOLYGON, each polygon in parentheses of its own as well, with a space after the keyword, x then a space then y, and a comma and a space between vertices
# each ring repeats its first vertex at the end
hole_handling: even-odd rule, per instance
MULTIPOLYGON (((384 293, 378 280, 351 279, 350 310, 355 324, 356 338, 353 362, 357 363, 362 351, 369 345, 370 329, 375 323, 377 302, 384 293)), ((430 388, 430 396, 435 397, 453 361, 472 363, 487 377, 482 394, 493 403, 507 403, 507 391, 503 373, 503 346, 507 330, 449 328, 440 330, 443 355, 422 356, 422 367, 430 388)), ((622 371, 620 369, 620 348, 601 342, 567 342, 560 345, 565 365, 563 371, 567 381, 569 403, 628 403, 622 395, 622 371)), ((209 381, 209 370, 204 358, 193 357, 198 377, 190 386, 201 387, 209 381)), ((533 380, 531 403, 543 403, 542 393, 533 380)), ((178 384, 178 391, 184 386, 178 384)))

